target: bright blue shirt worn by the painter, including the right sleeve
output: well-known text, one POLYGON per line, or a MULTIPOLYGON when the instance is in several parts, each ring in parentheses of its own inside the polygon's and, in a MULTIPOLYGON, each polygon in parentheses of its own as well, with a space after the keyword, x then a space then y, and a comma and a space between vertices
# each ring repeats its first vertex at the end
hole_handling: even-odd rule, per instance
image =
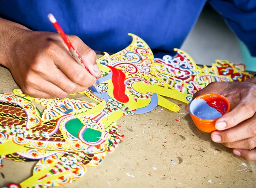
MULTIPOLYGON (((143 38, 155 57, 180 48, 207 0, 1 0, 0 16, 34 31, 56 32, 52 13, 67 34, 96 51, 117 52, 143 38)), ((256 56, 256 0, 209 0, 256 56)), ((196 46, 196 44, 195 44, 196 46)))

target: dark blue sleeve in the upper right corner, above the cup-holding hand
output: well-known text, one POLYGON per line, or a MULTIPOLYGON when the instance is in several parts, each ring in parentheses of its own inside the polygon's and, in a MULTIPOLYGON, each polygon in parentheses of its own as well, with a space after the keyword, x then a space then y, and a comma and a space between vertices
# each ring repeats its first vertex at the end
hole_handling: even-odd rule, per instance
POLYGON ((256 57, 256 0, 209 0, 256 57))

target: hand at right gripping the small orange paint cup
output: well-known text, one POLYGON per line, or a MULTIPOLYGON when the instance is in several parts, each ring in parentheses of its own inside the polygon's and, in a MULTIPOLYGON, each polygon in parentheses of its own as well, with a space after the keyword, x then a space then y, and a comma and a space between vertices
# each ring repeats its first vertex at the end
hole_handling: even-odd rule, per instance
MULTIPOLYGON (((211 138, 244 160, 256 160, 256 84, 250 82, 214 82, 198 91, 201 94, 215 93, 226 97, 231 111, 220 117, 211 138)), ((188 111, 188 105, 186 106, 188 111)))

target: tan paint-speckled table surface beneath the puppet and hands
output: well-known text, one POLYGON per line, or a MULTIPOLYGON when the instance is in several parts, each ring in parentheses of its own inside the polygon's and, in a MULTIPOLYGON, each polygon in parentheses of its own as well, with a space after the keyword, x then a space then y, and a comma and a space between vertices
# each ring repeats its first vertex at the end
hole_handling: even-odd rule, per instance
MULTIPOLYGON (((1 93, 12 94, 18 88, 6 68, 0 67, 0 78, 1 93)), ((82 94, 70 98, 92 102, 82 94)), ((101 165, 87 167, 81 179, 63 188, 255 187, 256 162, 244 161, 230 148, 212 142, 210 134, 196 128, 184 103, 169 100, 180 105, 179 112, 157 106, 147 114, 119 119, 123 142, 101 165)), ((30 177, 35 163, 4 159, 0 187, 30 177)))

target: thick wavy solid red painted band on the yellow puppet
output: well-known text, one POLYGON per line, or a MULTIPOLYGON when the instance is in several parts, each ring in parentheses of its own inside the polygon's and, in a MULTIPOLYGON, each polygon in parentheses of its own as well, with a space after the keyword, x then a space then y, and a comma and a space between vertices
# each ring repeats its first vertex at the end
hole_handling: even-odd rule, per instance
POLYGON ((108 66, 112 71, 113 95, 121 103, 127 103, 129 98, 125 95, 125 73, 121 70, 108 66))

